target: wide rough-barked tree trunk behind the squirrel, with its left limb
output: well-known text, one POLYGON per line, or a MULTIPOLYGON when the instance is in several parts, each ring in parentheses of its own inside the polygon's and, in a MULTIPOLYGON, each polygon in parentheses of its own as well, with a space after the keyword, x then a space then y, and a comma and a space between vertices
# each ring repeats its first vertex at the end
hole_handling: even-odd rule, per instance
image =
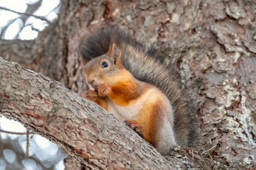
POLYGON ((255 168, 255 1, 61 3, 58 20, 37 40, 1 40, 0 55, 81 92, 78 29, 90 20, 110 18, 137 40, 153 43, 164 54, 166 66, 176 67, 188 97, 200 107, 195 149, 209 149, 204 154, 227 167, 255 168))

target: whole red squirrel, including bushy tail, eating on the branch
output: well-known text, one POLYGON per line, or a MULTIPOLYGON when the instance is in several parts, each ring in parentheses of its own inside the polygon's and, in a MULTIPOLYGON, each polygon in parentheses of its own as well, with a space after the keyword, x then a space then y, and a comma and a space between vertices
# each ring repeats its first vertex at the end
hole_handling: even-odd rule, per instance
POLYGON ((174 74, 116 25, 92 28, 80 39, 83 97, 124 121, 161 154, 193 143, 193 116, 174 74))

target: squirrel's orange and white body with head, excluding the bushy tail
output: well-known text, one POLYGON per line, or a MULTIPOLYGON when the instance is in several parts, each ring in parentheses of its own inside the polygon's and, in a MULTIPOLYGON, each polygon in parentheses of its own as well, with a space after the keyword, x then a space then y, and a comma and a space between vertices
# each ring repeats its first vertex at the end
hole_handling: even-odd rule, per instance
POLYGON ((82 96, 126 120, 161 154, 167 154, 176 145, 171 104, 155 86, 135 79, 123 67, 121 56, 112 44, 106 55, 87 62, 83 75, 89 90, 82 96))

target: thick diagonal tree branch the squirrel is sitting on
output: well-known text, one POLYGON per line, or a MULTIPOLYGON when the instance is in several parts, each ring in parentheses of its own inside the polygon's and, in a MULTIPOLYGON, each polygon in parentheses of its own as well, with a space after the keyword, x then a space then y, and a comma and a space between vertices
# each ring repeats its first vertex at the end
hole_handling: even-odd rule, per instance
POLYGON ((178 164, 58 81, 1 57, 0 63, 0 113, 57 143, 82 164, 97 169, 174 169, 178 164))

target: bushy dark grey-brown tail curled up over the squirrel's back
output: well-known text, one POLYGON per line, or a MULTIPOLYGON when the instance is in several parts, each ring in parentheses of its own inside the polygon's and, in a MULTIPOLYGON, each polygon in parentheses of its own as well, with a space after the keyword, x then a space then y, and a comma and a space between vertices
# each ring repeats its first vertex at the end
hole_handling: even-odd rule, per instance
POLYGON ((157 86, 166 94, 174 108, 174 132, 178 145, 190 146, 193 142, 193 115, 179 88, 172 69, 161 64, 154 48, 146 48, 119 27, 107 24, 92 28, 80 40, 80 54, 85 61, 107 53, 114 42, 122 51, 122 63, 134 77, 157 86))

